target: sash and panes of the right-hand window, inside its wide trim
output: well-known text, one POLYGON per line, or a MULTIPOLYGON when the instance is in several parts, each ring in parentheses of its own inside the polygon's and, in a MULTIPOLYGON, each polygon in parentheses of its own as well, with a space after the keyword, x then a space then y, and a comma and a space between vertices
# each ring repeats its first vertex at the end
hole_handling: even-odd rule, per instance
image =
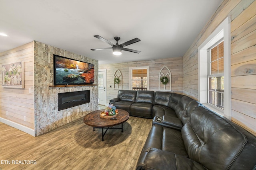
POLYGON ((224 109, 224 42, 208 49, 208 103, 224 109))

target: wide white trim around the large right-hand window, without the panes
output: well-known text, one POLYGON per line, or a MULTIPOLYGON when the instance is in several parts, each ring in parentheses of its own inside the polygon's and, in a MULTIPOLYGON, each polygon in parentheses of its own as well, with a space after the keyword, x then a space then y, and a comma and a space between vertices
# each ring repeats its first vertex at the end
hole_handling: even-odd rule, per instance
MULTIPOLYGON (((227 17, 212 34, 198 47, 198 98, 202 104, 207 104, 207 49, 220 39, 224 39, 224 112, 214 109, 217 113, 231 119, 231 34, 230 16, 227 17)), ((209 105, 208 105, 209 106, 209 105)))

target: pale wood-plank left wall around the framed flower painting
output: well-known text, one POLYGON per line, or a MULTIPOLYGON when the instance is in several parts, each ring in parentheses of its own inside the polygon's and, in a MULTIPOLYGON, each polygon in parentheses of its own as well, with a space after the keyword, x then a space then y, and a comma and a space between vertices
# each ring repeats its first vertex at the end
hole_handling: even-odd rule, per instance
MULTIPOLYGON (((2 65, 24 61, 24 89, 3 88, 0 86, 0 117, 34 130, 34 94, 29 88, 34 87, 33 43, 0 53, 2 65), (6 115, 8 111, 8 116, 6 115), (26 116, 26 121, 24 121, 26 116)), ((2 71, 2 70, 1 70, 2 71)), ((2 72, 0 74, 2 84, 2 72)))

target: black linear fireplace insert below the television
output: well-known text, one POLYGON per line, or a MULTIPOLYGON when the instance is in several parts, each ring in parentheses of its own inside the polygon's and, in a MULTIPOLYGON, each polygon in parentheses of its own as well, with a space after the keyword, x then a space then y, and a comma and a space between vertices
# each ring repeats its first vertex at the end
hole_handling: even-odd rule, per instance
POLYGON ((58 94, 58 110, 86 104, 90 102, 90 90, 66 92, 58 94))

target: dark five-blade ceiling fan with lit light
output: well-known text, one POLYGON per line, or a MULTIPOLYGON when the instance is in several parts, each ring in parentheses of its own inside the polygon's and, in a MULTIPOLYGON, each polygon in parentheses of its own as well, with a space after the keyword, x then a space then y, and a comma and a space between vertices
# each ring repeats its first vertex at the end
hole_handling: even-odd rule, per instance
POLYGON ((121 55, 122 54, 122 50, 124 51, 130 51, 130 52, 133 52, 133 53, 140 53, 141 51, 137 51, 137 50, 133 50, 133 49, 127 49, 127 48, 124 48, 125 46, 127 45, 131 45, 133 43, 136 43, 138 41, 140 41, 140 39, 138 38, 134 38, 130 41, 127 41, 125 43, 122 43, 120 45, 118 45, 118 41, 120 40, 120 37, 114 37, 114 39, 116 40, 116 45, 114 45, 113 43, 111 43, 110 41, 100 37, 100 35, 94 35, 94 37, 100 39, 101 41, 104 41, 105 43, 108 43, 109 45, 111 45, 112 47, 109 47, 109 48, 100 48, 100 49, 91 49, 92 51, 97 51, 97 50, 105 50, 105 49, 113 49, 113 54, 114 55, 121 55))

